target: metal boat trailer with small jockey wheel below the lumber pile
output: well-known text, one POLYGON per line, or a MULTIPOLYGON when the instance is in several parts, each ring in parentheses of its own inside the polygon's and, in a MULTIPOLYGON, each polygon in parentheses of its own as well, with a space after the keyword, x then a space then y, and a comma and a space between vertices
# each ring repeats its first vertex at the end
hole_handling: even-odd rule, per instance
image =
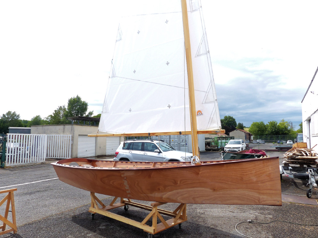
MULTIPOLYGON (((307 197, 310 198, 313 193, 313 186, 317 187, 316 179, 318 179, 318 171, 316 168, 307 165, 301 166, 291 166, 289 164, 284 163, 284 166, 280 165, 280 179, 282 175, 285 175, 290 178, 297 178, 301 180, 308 180, 307 185, 309 185, 309 189, 307 190, 307 197)), ((316 190, 316 194, 318 196, 318 189, 316 190)))

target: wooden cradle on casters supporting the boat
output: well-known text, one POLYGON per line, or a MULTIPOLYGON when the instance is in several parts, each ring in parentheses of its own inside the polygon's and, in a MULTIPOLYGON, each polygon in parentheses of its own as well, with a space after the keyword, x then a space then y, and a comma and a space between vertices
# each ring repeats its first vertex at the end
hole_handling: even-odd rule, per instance
MULTIPOLYGON (((95 193, 93 192, 91 192, 91 198, 92 198, 92 205, 89 208, 89 212, 91 212, 92 215, 95 213, 98 213, 98 214, 113 218, 115 220, 125 222, 129 225, 141 228, 150 234, 156 234, 160 231, 173 227, 177 224, 181 225, 183 221, 187 220, 187 214, 186 214, 187 206, 185 203, 181 203, 173 212, 171 212, 171 211, 158 208, 158 206, 165 204, 165 202, 153 202, 151 203, 151 206, 149 206, 149 205, 145 205, 141 203, 132 202, 130 199, 126 200, 124 198, 120 198, 120 202, 115 203, 118 197, 114 197, 113 201, 108 206, 106 206, 96 197, 95 193), (124 207, 124 209, 127 211, 128 206, 148 210, 150 211, 150 213, 146 216, 146 218, 142 222, 138 222, 138 221, 135 221, 135 220, 132 220, 124 216, 117 215, 113 212, 108 211, 118 207, 124 207), (169 220, 164 220, 162 215, 166 215, 172 218, 169 220), (146 225, 146 222, 149 221, 150 218, 152 218, 152 226, 146 225), (159 218, 161 223, 157 224, 157 218, 159 218)), ((179 228, 180 228, 180 225, 179 225, 179 228)))

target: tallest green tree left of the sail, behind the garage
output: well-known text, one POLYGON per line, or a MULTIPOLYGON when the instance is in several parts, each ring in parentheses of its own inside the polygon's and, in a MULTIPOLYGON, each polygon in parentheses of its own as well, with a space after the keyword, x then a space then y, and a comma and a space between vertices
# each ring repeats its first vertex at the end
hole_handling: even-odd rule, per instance
POLYGON ((68 99, 66 118, 72 116, 92 116, 93 111, 86 114, 87 109, 88 103, 82 101, 80 96, 77 95, 76 97, 71 97, 68 99))

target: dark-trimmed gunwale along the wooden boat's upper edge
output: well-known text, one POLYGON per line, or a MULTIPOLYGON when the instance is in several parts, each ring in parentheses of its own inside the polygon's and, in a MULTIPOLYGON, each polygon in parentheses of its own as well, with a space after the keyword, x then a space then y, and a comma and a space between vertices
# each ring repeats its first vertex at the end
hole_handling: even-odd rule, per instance
MULTIPOLYGON (((109 161, 109 162, 122 162, 122 163, 128 163, 128 164, 134 164, 136 167, 86 167, 86 166, 80 166, 80 165, 69 165, 69 164, 63 164, 64 162, 93 162, 93 161, 102 161, 102 160, 94 160, 94 159, 86 159, 86 158, 70 158, 70 159, 64 159, 57 162, 51 163, 53 166, 60 166, 60 167, 69 167, 69 168, 75 168, 75 169, 98 169, 98 170, 132 170, 132 169, 176 169, 181 167, 197 167, 197 166, 207 166, 207 165, 222 165, 222 164, 228 164, 228 163, 247 163, 247 162, 253 162, 253 161, 261 161, 261 160, 272 160, 272 159, 278 159, 278 156, 274 157, 263 157, 263 158, 250 158, 250 159, 237 159, 237 160, 208 160, 208 161, 202 161, 201 164, 190 164, 190 162, 143 162, 143 161, 109 161), (170 166, 160 166, 160 167, 138 167, 137 164, 144 164, 144 163, 185 163, 184 165, 170 165, 170 166), (186 164, 189 163, 189 164, 186 164)), ((90 164, 91 165, 91 164, 90 164)))

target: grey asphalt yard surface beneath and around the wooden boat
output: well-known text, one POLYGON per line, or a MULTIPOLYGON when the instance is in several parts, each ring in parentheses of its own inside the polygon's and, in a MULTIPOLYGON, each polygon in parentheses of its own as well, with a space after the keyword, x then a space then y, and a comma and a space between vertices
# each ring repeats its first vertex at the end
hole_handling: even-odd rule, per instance
MULTIPOLYGON (((267 154, 279 156, 281 163, 283 153, 267 154)), ((200 158, 217 160, 220 158, 220 152, 202 152, 200 158)), ((147 233, 139 228, 99 214, 92 220, 88 212, 91 203, 89 192, 59 181, 49 161, 0 169, 0 176, 0 190, 17 188, 14 197, 18 225, 17 234, 8 233, 1 235, 1 238, 147 237, 147 233)), ((235 175, 229 171, 228 175, 224 175, 224 179, 235 179, 235 175)), ((306 200, 316 202, 317 190, 314 190, 309 199, 306 197, 306 182, 283 176, 281 185, 283 196, 295 196, 301 201, 283 202, 281 207, 187 204, 188 220, 182 223, 181 229, 175 226, 155 234, 154 237, 244 237, 238 231, 253 238, 316 237, 318 206, 306 204, 309 203, 306 200)), ((105 204, 112 201, 109 196, 98 197, 105 204)), ((0 199, 2 198, 3 196, 0 196, 0 199)), ((175 206, 176 204, 170 203, 160 208, 174 210, 175 206)), ((0 207, 1 215, 3 210, 3 206, 0 207)), ((113 212, 136 221, 142 221, 149 214, 134 207, 129 207, 128 211, 116 208, 113 212)))

